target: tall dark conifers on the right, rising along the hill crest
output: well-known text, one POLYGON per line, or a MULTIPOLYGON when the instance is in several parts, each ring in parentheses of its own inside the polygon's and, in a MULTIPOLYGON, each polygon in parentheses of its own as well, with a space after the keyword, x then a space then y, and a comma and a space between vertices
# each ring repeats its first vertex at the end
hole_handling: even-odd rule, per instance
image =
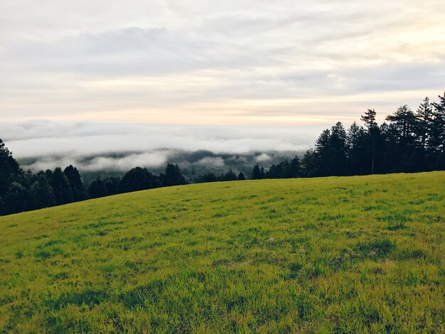
POLYGON ((348 129, 336 123, 301 159, 284 160, 269 171, 256 165, 252 179, 445 170, 445 93, 439 102, 426 97, 415 112, 402 105, 380 125, 376 114, 368 109, 363 125, 353 122, 348 129))

